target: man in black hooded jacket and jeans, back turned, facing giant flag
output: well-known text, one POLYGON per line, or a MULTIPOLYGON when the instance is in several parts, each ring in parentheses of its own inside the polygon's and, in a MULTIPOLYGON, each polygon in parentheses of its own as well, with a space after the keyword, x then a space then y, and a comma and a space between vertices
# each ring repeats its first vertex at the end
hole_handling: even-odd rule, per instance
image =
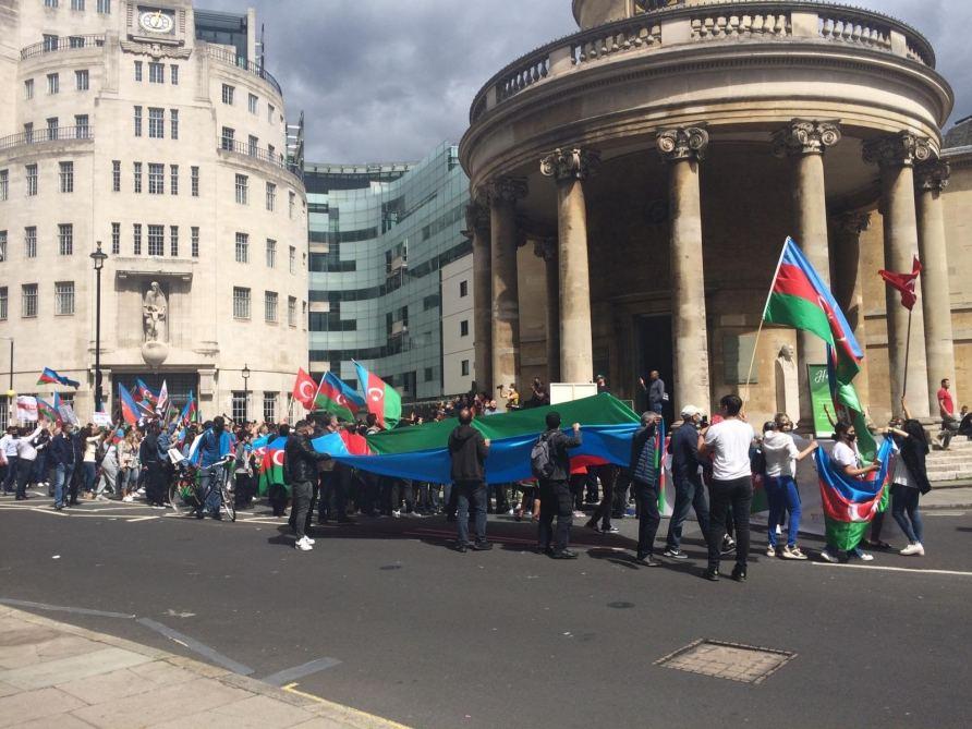
POLYGON ((473 413, 469 408, 459 411, 459 425, 449 434, 449 457, 452 461, 452 483, 457 490, 459 517, 457 530, 458 551, 464 552, 470 546, 477 551, 491 549, 486 540, 486 471, 484 464, 489 454, 489 440, 473 425, 473 413), (470 545, 470 503, 476 520, 476 542, 470 545))

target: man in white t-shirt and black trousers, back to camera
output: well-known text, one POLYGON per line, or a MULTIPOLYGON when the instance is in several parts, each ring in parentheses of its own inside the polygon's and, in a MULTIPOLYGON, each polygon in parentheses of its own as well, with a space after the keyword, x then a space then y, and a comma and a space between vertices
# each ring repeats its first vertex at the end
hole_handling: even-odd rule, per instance
POLYGON ((750 552, 750 505, 753 500, 753 476, 750 470, 750 446, 756 434, 740 411, 742 400, 727 394, 719 401, 722 421, 707 428, 700 437, 698 454, 713 455, 713 478, 709 484, 708 569, 705 579, 719 579, 726 515, 732 509, 736 522, 736 567, 732 579, 745 582, 746 557, 750 552))

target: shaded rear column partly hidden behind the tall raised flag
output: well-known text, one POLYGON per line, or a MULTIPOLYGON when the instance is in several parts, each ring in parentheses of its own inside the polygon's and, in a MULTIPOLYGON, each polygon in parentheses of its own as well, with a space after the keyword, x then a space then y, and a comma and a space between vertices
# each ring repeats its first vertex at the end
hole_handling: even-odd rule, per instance
POLYGON ((864 284, 861 272, 861 233, 871 228, 870 212, 846 212, 834 220, 834 297, 843 309, 854 338, 864 352, 854 387, 870 410, 871 380, 867 374, 867 332, 864 323, 864 284))

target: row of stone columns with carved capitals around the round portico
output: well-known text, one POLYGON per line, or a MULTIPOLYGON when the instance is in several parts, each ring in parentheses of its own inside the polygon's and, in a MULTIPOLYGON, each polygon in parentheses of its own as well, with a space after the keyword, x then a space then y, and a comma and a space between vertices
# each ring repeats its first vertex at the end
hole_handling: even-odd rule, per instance
MULTIPOLYGON (((833 268, 835 296, 865 348, 860 234, 870 226, 870 216, 851 210, 830 220, 826 205, 823 156, 840 138, 837 121, 794 119, 773 135, 773 149, 777 156, 789 159, 792 167, 794 238, 828 283, 833 268), (829 230, 835 241, 833 252, 829 230)), ((702 124, 663 129, 657 133, 656 145, 668 168, 676 412, 685 404, 709 411, 700 185, 709 135, 702 124)), ((937 382, 945 377, 953 379, 955 373, 940 199, 948 182, 948 166, 933 159, 930 139, 910 132, 867 141, 863 157, 880 170, 885 267, 910 271, 912 254, 921 252, 926 293, 915 307, 921 311, 915 311, 912 323, 914 345, 908 402, 915 416, 937 415, 937 382)), ((598 161, 596 151, 581 147, 555 149, 540 160, 540 172, 557 185, 557 239, 534 238, 535 253, 546 264, 547 354, 549 376, 555 381, 587 382, 594 375, 584 185, 598 161)), ((498 178, 477 191, 470 207, 476 283, 476 379, 481 389, 517 380, 517 247, 521 240, 517 203, 526 194, 525 180, 498 178)), ((904 379, 908 316, 892 291, 888 292, 887 311, 891 402, 896 405, 904 379)), ((805 365, 824 363, 826 356, 816 337, 801 336, 798 341, 801 421, 809 423, 805 365)), ((866 392, 866 368, 858 386, 866 392)))

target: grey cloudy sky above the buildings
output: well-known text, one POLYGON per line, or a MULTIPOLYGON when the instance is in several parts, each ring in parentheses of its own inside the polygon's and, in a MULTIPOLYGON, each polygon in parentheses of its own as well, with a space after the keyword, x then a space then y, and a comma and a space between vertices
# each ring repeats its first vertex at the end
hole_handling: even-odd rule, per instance
MULTIPOLYGON (((576 29, 570 0, 198 0, 257 10, 267 68, 292 118, 307 121, 308 161, 416 160, 458 142, 483 83, 517 57, 576 29)), ((853 0, 922 31, 972 114, 972 0, 853 0)))

